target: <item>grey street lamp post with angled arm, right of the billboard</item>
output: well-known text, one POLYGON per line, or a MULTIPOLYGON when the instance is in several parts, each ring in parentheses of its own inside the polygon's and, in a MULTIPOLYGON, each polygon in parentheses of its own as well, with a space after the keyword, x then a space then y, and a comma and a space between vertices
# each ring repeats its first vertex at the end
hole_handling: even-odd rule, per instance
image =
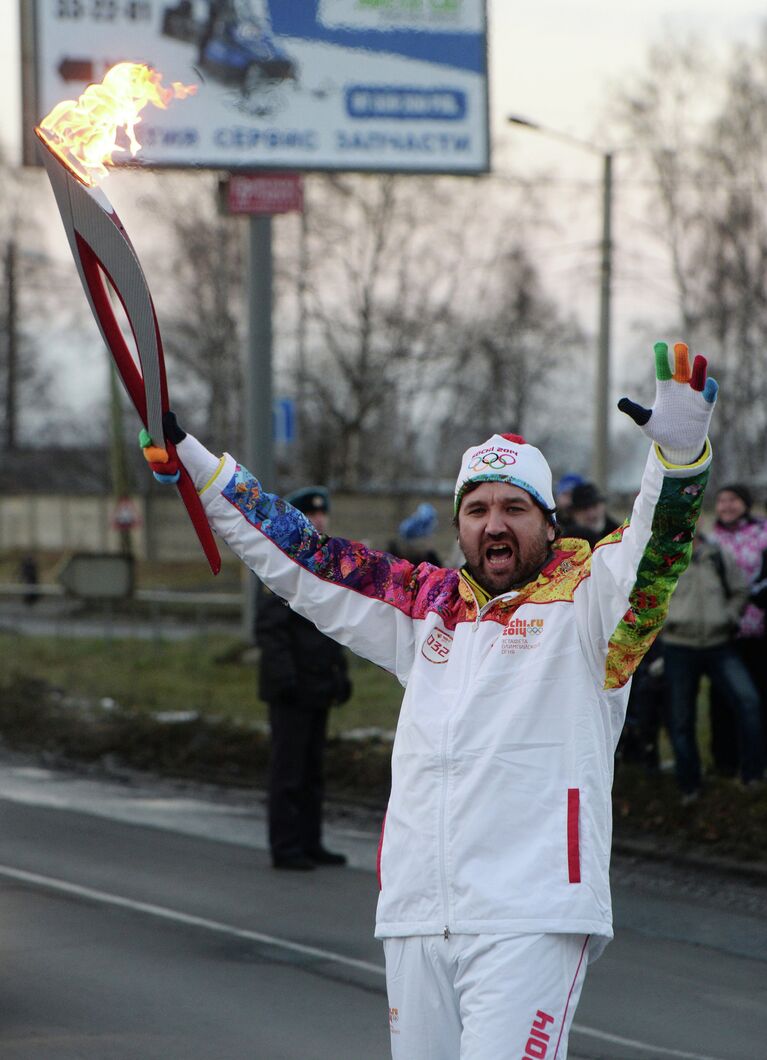
POLYGON ((612 152, 602 151, 595 144, 577 137, 559 132, 531 122, 527 118, 509 114, 511 125, 534 129, 554 140, 564 140, 575 147, 599 155, 602 170, 602 238, 600 268, 600 320, 596 347, 596 381, 594 390, 594 434, 591 454, 591 477, 600 489, 607 489, 609 458, 608 412, 610 400, 610 307, 612 294, 612 152))

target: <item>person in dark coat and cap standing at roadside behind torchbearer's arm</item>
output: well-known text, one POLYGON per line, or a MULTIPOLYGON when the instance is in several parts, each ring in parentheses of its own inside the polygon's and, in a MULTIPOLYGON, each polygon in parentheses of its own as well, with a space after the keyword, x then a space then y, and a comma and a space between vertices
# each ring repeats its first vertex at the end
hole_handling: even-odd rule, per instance
MULTIPOLYGON (((324 532, 328 495, 310 487, 286 498, 324 532)), ((269 706, 269 846, 274 868, 343 865, 322 845, 327 716, 352 694, 343 649, 262 586, 255 620, 258 694, 269 706)))

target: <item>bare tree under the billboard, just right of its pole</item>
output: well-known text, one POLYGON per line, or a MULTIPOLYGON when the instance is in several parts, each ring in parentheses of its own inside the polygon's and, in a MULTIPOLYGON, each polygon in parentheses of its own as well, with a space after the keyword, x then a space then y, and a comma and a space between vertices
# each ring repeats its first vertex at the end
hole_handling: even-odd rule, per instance
MULTIPOLYGON (((444 194, 429 182, 432 210, 444 194)), ((306 198, 298 253, 281 269, 299 292, 303 463, 352 488, 400 477, 410 411, 443 357, 459 276, 428 244, 425 181, 314 178, 306 198)))

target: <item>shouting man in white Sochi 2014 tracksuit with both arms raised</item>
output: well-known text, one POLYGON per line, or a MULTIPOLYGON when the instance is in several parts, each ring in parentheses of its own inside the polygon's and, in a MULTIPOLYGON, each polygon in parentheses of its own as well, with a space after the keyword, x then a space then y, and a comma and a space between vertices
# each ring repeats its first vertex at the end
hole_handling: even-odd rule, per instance
POLYGON ((588 961, 612 937, 613 754, 690 560, 717 392, 682 343, 674 370, 665 343, 655 353, 653 408, 619 405, 653 443, 630 518, 593 552, 561 540, 542 454, 495 435, 461 461, 461 570, 318 532, 164 418, 214 531, 406 688, 376 917, 394 1060, 564 1060, 588 961))

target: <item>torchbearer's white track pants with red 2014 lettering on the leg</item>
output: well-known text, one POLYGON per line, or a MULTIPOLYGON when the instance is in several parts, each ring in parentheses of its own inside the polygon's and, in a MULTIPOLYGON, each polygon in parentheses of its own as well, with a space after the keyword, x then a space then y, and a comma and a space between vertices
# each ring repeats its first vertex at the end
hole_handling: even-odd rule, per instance
POLYGON ((565 1060, 587 935, 387 938, 393 1060, 565 1060))

